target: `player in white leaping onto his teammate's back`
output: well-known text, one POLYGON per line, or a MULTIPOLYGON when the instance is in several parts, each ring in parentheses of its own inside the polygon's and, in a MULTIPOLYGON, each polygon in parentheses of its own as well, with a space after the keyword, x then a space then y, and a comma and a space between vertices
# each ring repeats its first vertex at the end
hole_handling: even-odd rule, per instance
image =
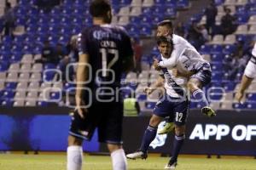
MULTIPOLYGON (((209 106, 207 101, 206 94, 201 90, 203 86, 206 86, 209 82, 211 82, 212 71, 210 64, 204 60, 201 55, 196 51, 196 49, 183 37, 179 37, 176 34, 173 34, 173 26, 171 20, 163 20, 157 26, 156 37, 166 36, 171 37, 173 42, 173 48, 175 49, 173 53, 175 53, 173 58, 167 59, 166 61, 160 61, 160 67, 175 67, 176 60, 185 52, 189 53, 187 56, 187 67, 189 67, 190 71, 194 74, 185 74, 183 76, 190 77, 188 82, 188 88, 190 94, 194 97, 196 101, 201 105, 201 112, 207 116, 215 116, 215 111, 209 106), (193 65, 193 63, 198 62, 200 65, 193 65)), ((184 61, 185 62, 185 61, 184 61)), ((166 126, 160 131, 160 133, 168 133, 172 130, 172 122, 167 122, 166 126)))

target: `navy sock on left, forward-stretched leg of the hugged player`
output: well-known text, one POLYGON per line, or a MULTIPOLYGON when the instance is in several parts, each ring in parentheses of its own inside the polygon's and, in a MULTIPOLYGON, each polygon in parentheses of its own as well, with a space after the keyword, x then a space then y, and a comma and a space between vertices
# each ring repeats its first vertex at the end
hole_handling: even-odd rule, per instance
POLYGON ((147 152, 149 144, 155 138, 156 132, 157 132, 157 127, 151 127, 150 125, 148 125, 148 127, 143 135, 143 142, 140 147, 140 150, 142 150, 143 152, 147 152))

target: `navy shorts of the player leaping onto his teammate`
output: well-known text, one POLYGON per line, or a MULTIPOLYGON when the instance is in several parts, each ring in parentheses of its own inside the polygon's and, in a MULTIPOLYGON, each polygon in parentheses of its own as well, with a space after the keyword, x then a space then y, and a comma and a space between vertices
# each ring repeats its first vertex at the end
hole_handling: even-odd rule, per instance
POLYGON ((202 86, 207 86, 207 84, 212 80, 212 71, 210 65, 203 65, 200 71, 196 72, 191 78, 196 78, 201 81, 202 86))

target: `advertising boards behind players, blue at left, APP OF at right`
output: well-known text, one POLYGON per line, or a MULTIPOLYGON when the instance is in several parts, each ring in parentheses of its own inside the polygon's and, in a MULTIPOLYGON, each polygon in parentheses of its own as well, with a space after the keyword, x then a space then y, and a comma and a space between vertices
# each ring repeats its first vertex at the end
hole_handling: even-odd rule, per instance
MULTIPOLYGON (((65 151, 70 117, 67 108, 2 108, 0 150, 65 151)), ((125 117, 124 147, 137 150, 149 117, 125 117)), ((190 111, 183 154, 256 156, 256 114, 254 111, 218 111, 208 118, 190 111)), ((169 154, 173 134, 160 135, 150 152, 169 154)), ((97 142, 97 133, 84 150, 106 152, 97 142)))

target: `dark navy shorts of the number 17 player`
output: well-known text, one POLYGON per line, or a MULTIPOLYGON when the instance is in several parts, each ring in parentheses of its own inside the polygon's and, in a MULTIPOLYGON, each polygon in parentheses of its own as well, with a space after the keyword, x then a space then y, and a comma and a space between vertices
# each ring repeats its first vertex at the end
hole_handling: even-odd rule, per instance
POLYGON ((72 114, 69 134, 79 139, 90 140, 98 128, 98 141, 122 144, 123 103, 96 103, 91 105, 85 118, 77 111, 72 114))

